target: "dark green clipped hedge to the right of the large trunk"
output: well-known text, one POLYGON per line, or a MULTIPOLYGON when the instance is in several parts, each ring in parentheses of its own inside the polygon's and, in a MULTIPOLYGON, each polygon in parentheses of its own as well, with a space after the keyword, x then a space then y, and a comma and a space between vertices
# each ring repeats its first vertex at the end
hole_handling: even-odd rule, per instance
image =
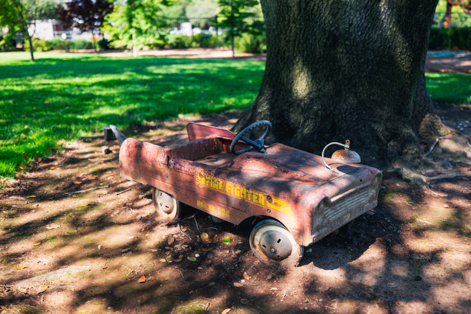
POLYGON ((471 50, 471 27, 432 27, 429 49, 466 49, 471 50))

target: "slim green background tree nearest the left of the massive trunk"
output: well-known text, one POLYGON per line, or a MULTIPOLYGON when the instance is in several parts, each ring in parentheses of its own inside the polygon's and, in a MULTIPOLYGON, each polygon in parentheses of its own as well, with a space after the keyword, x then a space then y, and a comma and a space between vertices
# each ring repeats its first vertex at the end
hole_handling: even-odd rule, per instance
POLYGON ((260 34, 264 28, 261 21, 250 18, 257 17, 253 8, 259 4, 257 0, 219 0, 218 26, 229 29, 231 37, 232 57, 234 57, 234 37, 245 32, 260 34))

